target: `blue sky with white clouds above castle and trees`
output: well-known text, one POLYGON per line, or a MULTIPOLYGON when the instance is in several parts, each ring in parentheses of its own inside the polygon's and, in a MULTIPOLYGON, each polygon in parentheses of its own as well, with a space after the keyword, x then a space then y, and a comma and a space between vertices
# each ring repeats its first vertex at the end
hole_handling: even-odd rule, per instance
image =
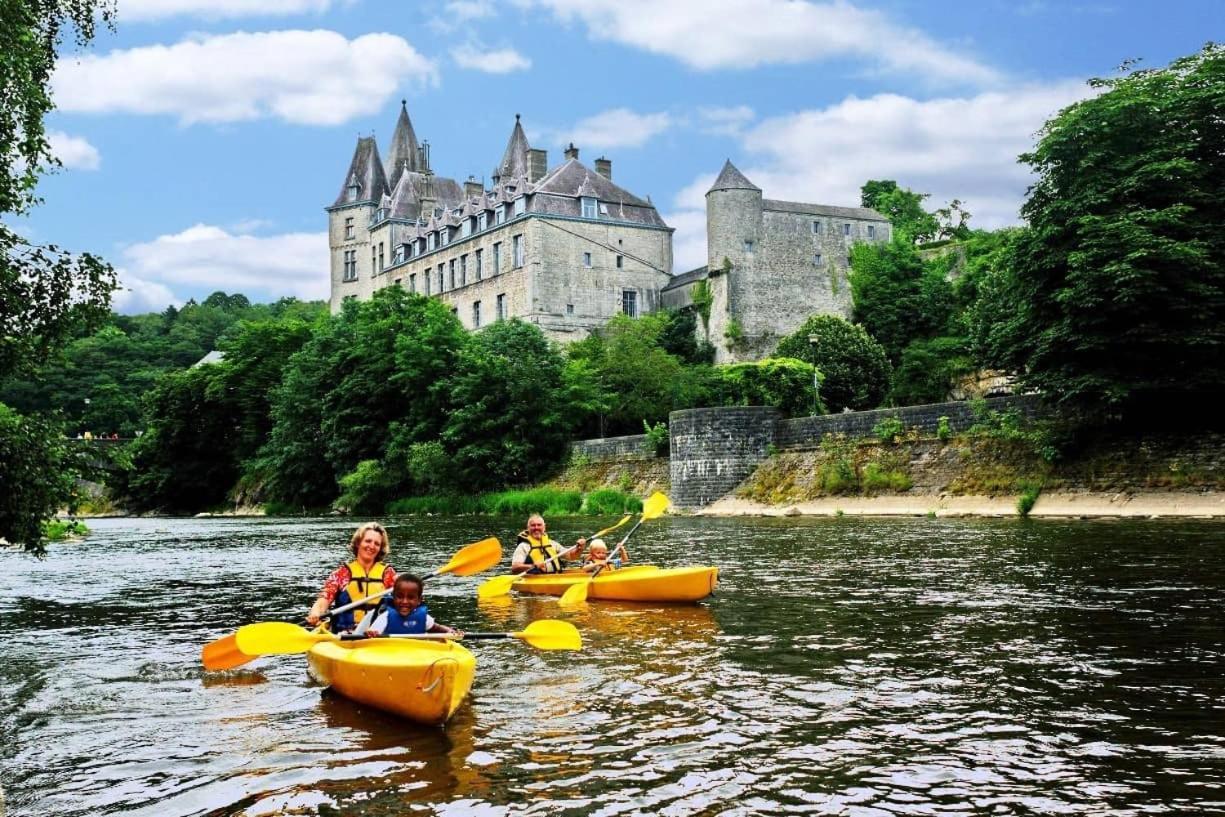
POLYGON ((439 174, 489 176, 522 115, 550 167, 649 196, 674 272, 706 262, 731 159, 769 198, 858 206, 869 179, 1019 223, 1017 157, 1117 76, 1225 36, 1223 0, 116 0, 66 49, 48 119, 64 167, 11 224, 102 255, 120 312, 218 289, 326 299, 327 214, 359 136, 401 99, 439 174))

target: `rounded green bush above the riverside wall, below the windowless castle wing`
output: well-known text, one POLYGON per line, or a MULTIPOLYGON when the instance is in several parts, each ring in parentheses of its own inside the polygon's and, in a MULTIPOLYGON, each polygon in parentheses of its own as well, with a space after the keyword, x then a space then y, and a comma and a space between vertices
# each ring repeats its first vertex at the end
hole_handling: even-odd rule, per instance
POLYGON ((864 327, 832 315, 810 317, 783 338, 775 354, 817 367, 823 376, 821 401, 832 412, 876 408, 889 387, 889 360, 881 344, 864 327))

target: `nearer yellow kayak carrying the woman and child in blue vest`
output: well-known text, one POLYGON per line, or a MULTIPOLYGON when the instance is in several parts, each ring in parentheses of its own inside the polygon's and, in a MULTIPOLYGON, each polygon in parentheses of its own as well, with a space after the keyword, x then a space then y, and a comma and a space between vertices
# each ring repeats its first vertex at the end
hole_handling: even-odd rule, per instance
POLYGON ((420 724, 443 724, 472 688, 477 659, 453 641, 325 641, 310 676, 345 698, 420 724))

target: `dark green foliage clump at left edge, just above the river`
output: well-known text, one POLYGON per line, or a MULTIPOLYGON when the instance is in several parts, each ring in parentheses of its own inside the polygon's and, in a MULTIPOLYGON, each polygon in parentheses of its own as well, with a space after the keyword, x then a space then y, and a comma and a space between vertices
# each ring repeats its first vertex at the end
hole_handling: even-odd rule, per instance
POLYGON ((0 403, 0 537, 36 555, 45 552, 43 522, 75 508, 81 457, 54 420, 27 416, 0 403))

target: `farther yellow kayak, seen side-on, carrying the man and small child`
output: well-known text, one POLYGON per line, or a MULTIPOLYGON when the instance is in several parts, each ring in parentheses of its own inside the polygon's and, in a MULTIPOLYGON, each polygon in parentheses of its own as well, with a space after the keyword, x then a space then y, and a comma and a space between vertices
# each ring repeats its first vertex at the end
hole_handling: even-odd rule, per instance
MULTIPOLYGON (((561 595, 576 582, 587 582, 589 573, 566 571, 526 576, 511 587, 519 593, 561 595)), ((698 601, 714 593, 719 583, 718 567, 655 567, 631 565, 603 571, 587 592, 589 599, 616 601, 698 601)))

